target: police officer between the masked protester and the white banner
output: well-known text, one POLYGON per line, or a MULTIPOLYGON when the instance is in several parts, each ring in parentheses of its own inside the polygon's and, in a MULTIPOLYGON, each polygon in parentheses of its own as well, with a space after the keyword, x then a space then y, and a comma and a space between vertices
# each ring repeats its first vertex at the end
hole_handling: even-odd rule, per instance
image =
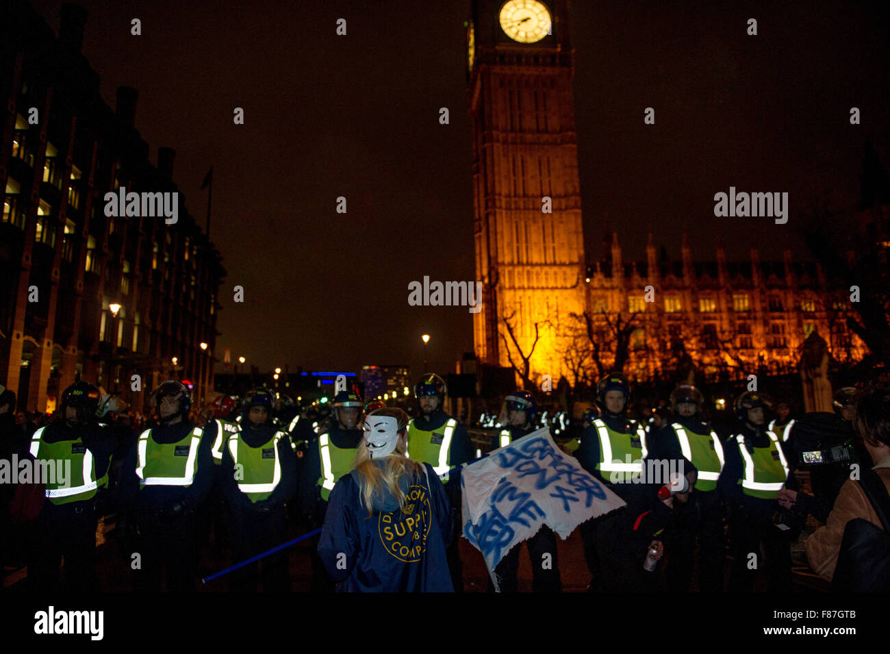
MULTIPOLYGON (((420 406, 420 416, 412 418, 408 425, 407 456, 424 464, 432 464, 440 475, 449 497, 455 533, 461 528, 460 472, 447 472, 473 458, 470 437, 464 425, 443 410, 448 389, 439 375, 424 375, 414 385, 414 398, 420 406)), ((458 538, 452 538, 448 547, 448 565, 451 585, 456 593, 463 593, 463 566, 458 552, 458 538)))

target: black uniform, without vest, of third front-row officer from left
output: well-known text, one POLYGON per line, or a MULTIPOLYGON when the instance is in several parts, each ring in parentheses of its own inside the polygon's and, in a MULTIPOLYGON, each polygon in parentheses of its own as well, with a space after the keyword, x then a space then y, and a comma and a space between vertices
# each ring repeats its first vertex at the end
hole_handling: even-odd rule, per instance
MULTIPOLYGON (((241 420, 240 438, 251 448, 269 444, 278 432, 273 424, 264 424, 254 429, 247 421, 241 420)), ((235 464, 231 457, 229 442, 223 443, 223 464, 220 465, 223 492, 231 509, 233 521, 233 547, 235 562, 245 561, 256 554, 281 545, 287 541, 286 504, 296 493, 296 456, 287 437, 278 442, 281 477, 271 495, 258 502, 238 488, 235 480, 235 464)), ((273 452, 270 452, 274 456, 273 452)), ((266 593, 287 593, 290 591, 290 571, 287 563, 287 550, 270 554, 261 564, 263 567, 263 591, 266 593)), ((230 573, 229 588, 236 592, 253 592, 256 588, 257 564, 253 563, 230 573)))

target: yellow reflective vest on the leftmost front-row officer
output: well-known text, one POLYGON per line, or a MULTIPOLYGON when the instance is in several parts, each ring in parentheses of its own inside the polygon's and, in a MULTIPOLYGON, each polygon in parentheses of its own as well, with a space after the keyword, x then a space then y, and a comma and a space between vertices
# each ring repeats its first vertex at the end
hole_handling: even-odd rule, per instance
POLYGON ((49 472, 49 464, 55 466, 54 474, 50 474, 53 480, 44 475, 44 495, 54 505, 67 505, 72 502, 83 502, 95 496, 98 488, 108 486, 108 471, 96 479, 96 464, 93 460, 93 452, 89 450, 81 439, 60 440, 55 443, 47 443, 42 437, 46 427, 41 427, 31 437, 31 456, 42 464, 43 472, 49 472), (68 459, 71 462, 71 479, 65 486, 61 485, 59 466, 68 459))

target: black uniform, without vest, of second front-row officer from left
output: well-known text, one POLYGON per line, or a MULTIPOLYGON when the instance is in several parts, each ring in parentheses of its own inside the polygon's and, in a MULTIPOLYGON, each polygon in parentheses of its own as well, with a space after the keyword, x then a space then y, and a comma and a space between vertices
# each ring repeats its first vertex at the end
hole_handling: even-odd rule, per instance
MULTIPOLYGON (((151 428, 150 438, 158 443, 176 443, 191 431, 192 425, 182 420, 176 424, 158 424, 151 428)), ((134 543, 125 543, 125 554, 131 568, 133 553, 140 554, 140 567, 134 569, 137 591, 161 589, 166 568, 166 588, 171 592, 188 592, 195 588, 197 567, 196 512, 214 482, 211 448, 216 437, 216 424, 207 424, 198 444, 195 477, 190 486, 150 485, 140 488, 136 475, 138 441, 124 462, 121 478, 120 509, 125 521, 135 524, 134 543), (130 545, 127 547, 126 545, 130 545)))

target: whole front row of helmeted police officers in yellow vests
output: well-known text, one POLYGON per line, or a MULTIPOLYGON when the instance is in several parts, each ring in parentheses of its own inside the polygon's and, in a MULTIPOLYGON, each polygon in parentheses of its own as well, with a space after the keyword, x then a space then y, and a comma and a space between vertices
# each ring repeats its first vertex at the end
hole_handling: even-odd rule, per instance
MULTIPOLYGON (((789 538, 773 524, 776 495, 786 485, 796 488, 782 449, 793 423, 787 414, 767 427, 764 397, 742 393, 735 403, 737 428, 721 439, 700 421, 700 391, 684 384, 671 394, 670 422, 647 433, 643 424, 627 417, 630 388, 623 375, 608 375, 597 392, 599 408, 584 416, 584 432, 574 443, 576 456, 625 500, 627 509, 581 525, 592 589, 656 589, 656 576, 643 569, 643 559, 653 544, 666 541, 670 589, 689 590, 697 552, 700 589, 722 590, 726 517, 734 559, 730 590, 750 590, 756 569, 764 564, 771 590, 788 589, 789 538), (681 488, 671 480, 666 499, 665 480, 639 483, 648 460, 682 462, 688 484, 681 488)), ((443 410, 446 393, 439 375, 425 375, 415 386, 421 414, 409 424, 408 456, 432 464, 442 475, 459 529, 459 471, 446 472, 470 461, 473 448, 464 426, 443 410)), ((92 384, 73 384, 62 394, 62 419, 37 430, 31 441, 32 456, 69 459, 73 475, 64 487, 45 486, 44 510, 32 530, 35 539, 28 561, 28 576, 36 590, 58 585, 62 556, 71 589, 89 590, 95 585, 96 522, 108 502, 111 454, 116 447, 119 450, 109 427, 94 419, 99 397, 92 384)), ((125 449, 113 498, 117 531, 131 558, 138 590, 159 590, 165 576, 168 590, 193 590, 196 550, 211 524, 214 540, 228 541, 235 561, 284 543, 286 505, 296 504, 291 500, 298 488, 301 513, 310 527, 320 526, 328 494, 336 480, 352 469, 363 433, 362 403, 352 392, 336 395, 330 416, 313 407, 300 415, 294 411, 292 416, 281 416, 292 417, 282 421, 273 419, 274 394, 257 389, 240 407, 225 400, 222 411, 200 425, 188 420, 190 392, 179 382, 161 384, 151 401, 158 420, 125 449), (205 502, 208 497, 211 502, 205 502)), ((502 429, 492 447, 535 431, 537 413, 530 392, 507 396, 502 429)), ((449 546, 449 569, 460 591, 457 543, 455 538, 449 546)), ((507 553, 496 569, 504 591, 516 589, 521 547, 507 553)), ((554 532, 543 527, 526 547, 534 590, 561 590, 554 532), (543 553, 552 555, 550 565, 541 564, 543 553)), ((286 550, 265 557, 260 565, 262 575, 257 564, 231 573, 230 588, 250 591, 262 580, 266 591, 289 589, 286 550)), ((333 590, 316 556, 312 568, 312 590, 333 590)))

